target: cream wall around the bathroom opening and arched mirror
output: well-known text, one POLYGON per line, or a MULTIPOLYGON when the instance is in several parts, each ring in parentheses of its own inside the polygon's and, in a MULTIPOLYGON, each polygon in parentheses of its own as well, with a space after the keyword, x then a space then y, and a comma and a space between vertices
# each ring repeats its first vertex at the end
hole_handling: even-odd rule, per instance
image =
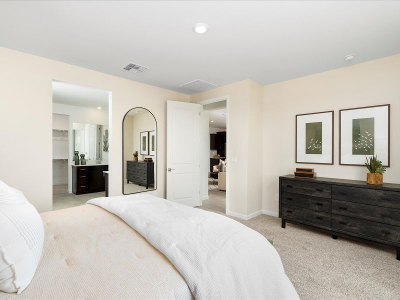
POLYGON ((110 195, 122 193, 124 114, 137 106, 154 114, 158 123, 159 161, 156 194, 165 196, 166 101, 189 101, 188 95, 3 47, 0 47, 0 65, 0 126, 4 128, 0 139, 13 145, 12 151, 0 147, 0 179, 22 190, 38 211, 52 208, 53 79, 112 92, 108 110, 110 195), (40 180, 35 179, 37 176, 40 180))

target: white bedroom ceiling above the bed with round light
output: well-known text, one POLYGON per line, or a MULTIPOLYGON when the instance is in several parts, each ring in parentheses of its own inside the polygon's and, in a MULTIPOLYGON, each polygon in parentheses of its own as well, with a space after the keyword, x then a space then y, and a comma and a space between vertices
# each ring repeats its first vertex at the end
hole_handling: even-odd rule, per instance
POLYGON ((400 1, 0 1, 0 45, 185 93, 400 52, 400 1), (192 25, 209 24, 196 34, 192 25), (127 62, 150 69, 121 70, 127 62))

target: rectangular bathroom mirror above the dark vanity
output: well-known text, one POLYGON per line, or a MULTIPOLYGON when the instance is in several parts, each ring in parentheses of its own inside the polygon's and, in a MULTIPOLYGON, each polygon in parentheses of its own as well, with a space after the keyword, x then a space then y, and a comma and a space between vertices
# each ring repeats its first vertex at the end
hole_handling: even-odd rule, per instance
POLYGON ((108 125, 72 123, 73 149, 86 160, 108 159, 108 125))

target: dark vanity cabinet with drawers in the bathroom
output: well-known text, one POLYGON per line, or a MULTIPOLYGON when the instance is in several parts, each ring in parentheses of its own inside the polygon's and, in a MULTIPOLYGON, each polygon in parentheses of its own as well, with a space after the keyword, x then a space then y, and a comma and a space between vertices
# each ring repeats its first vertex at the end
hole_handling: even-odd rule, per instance
POLYGON ((83 194, 105 190, 103 171, 108 165, 72 165, 72 192, 83 194))

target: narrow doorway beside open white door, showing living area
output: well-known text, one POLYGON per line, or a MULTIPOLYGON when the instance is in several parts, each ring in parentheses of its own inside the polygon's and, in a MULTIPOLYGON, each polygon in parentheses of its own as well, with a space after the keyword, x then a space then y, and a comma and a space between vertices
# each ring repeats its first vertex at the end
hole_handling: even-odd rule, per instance
POLYGON ((228 96, 198 102, 202 105, 202 206, 226 213, 228 193, 228 96), (205 184, 204 184, 205 183, 205 184))

